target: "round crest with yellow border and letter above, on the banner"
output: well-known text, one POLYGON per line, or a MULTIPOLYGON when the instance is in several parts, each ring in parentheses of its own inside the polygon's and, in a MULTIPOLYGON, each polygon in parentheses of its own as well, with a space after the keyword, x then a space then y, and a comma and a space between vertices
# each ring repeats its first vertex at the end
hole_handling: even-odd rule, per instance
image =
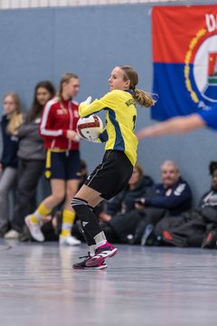
POLYGON ((207 28, 200 30, 185 55, 184 77, 187 90, 198 109, 210 110, 217 103, 217 34, 211 30, 212 14, 206 16, 207 28))

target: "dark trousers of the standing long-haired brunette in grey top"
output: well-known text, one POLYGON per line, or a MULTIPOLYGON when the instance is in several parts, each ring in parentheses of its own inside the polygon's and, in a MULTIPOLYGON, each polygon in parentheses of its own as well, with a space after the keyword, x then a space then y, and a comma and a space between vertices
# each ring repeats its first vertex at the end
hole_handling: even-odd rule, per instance
POLYGON ((19 159, 18 185, 12 221, 12 228, 18 232, 23 229, 24 217, 36 209, 36 191, 44 166, 45 161, 41 159, 19 159))

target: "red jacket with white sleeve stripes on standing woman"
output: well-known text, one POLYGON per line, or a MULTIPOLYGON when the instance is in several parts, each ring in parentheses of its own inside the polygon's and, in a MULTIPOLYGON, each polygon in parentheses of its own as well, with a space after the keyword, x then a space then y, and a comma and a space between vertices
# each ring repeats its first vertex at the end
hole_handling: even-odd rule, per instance
POLYGON ((71 100, 60 101, 58 98, 48 101, 42 111, 42 120, 39 127, 44 148, 79 149, 79 141, 72 141, 66 138, 67 130, 77 131, 79 119, 78 103, 71 100))

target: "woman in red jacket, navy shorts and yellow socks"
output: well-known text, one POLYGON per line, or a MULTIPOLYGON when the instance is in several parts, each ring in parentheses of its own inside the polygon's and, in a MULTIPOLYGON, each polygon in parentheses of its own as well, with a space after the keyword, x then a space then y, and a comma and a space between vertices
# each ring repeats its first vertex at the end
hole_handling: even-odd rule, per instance
POLYGON ((44 241, 41 226, 45 216, 64 200, 60 244, 80 245, 80 241, 71 236, 75 219, 71 198, 78 190, 80 178, 80 138, 76 131, 80 116, 79 106, 73 101, 79 90, 79 77, 65 73, 57 96, 47 102, 42 112, 40 134, 47 149, 45 174, 51 179, 52 195, 46 197, 32 215, 25 217, 33 239, 39 242, 44 241))

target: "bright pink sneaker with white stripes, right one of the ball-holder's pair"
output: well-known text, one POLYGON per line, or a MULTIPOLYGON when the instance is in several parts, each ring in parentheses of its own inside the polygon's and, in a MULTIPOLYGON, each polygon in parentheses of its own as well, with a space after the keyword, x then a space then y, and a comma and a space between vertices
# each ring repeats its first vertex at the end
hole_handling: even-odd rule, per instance
POLYGON ((110 245, 107 241, 105 245, 100 245, 96 249, 95 254, 89 259, 88 262, 86 262, 86 265, 90 267, 96 264, 102 264, 106 258, 113 257, 115 254, 117 254, 117 252, 118 249, 113 245, 110 245))

